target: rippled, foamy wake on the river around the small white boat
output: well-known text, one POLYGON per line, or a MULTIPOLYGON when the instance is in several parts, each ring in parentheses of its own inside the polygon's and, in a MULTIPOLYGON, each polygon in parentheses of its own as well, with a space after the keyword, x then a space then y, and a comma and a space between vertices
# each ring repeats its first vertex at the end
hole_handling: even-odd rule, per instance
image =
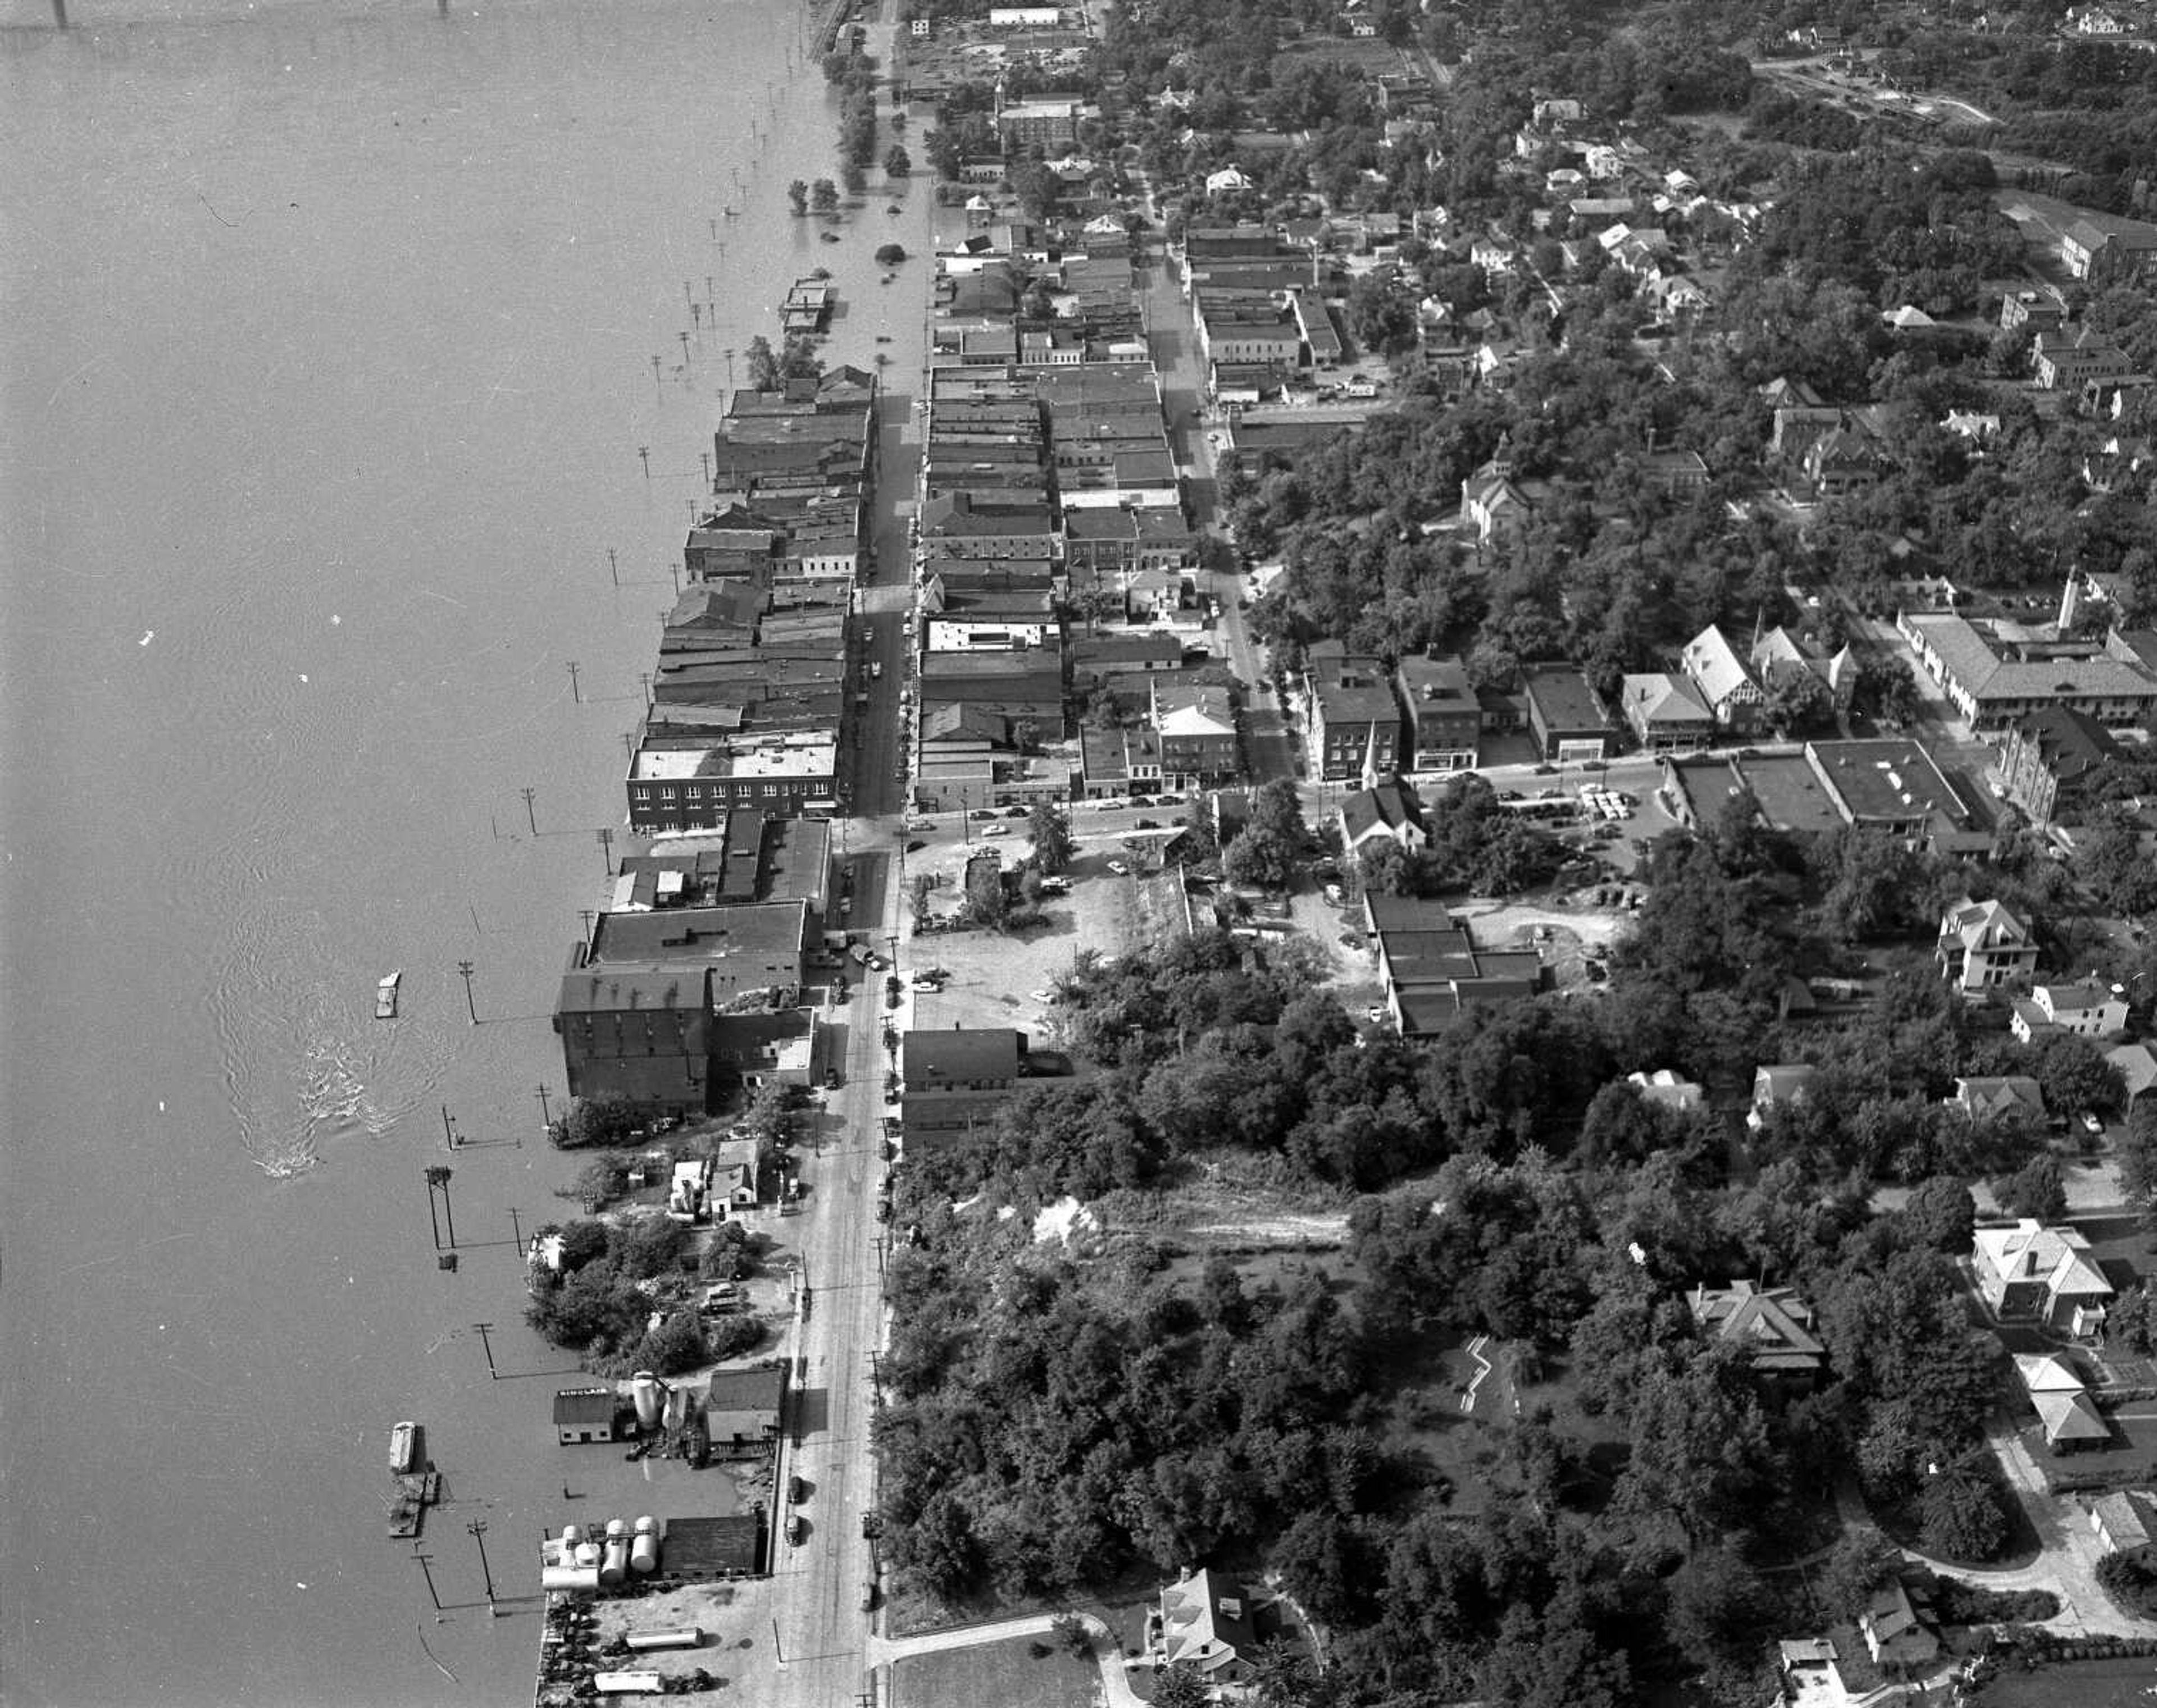
POLYGON ((306 1173, 326 1139, 380 1139, 449 1065, 440 1029, 377 1022, 373 983, 328 983, 321 919, 259 906, 233 923, 209 992, 218 1070, 242 1149, 272 1180, 306 1173))

